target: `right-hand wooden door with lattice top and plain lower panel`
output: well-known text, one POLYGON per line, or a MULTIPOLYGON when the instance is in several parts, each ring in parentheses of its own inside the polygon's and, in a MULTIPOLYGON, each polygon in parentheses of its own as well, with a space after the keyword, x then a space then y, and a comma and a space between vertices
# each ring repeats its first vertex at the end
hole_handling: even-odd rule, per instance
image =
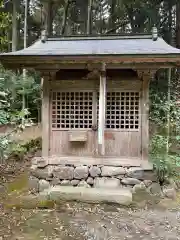
MULTIPOLYGON (((99 96, 97 101, 98 99, 99 96)), ((97 107, 97 119, 98 114, 99 106, 97 107)), ((106 156, 139 158, 141 156, 140 122, 139 92, 108 91, 105 127, 106 156)))

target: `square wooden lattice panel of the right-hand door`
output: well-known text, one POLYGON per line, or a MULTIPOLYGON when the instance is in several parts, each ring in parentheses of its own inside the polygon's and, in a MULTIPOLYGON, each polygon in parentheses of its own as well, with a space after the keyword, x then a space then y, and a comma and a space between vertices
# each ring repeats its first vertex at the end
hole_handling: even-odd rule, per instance
MULTIPOLYGON (((106 128, 139 129, 139 92, 107 92, 106 128)), ((97 97, 97 119, 99 115, 99 94, 97 97)))

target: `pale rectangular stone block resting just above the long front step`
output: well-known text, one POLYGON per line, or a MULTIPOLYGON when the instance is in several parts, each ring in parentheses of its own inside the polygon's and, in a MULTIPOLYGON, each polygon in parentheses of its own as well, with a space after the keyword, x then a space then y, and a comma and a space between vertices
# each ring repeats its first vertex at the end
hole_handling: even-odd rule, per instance
POLYGON ((94 179, 94 187, 95 188, 119 188, 120 181, 116 178, 95 178, 94 179))

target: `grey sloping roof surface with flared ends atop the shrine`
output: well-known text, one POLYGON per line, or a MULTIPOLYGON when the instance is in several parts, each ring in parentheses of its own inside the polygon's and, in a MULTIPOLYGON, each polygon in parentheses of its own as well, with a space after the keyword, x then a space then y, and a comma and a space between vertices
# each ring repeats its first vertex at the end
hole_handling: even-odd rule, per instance
POLYGON ((93 56, 93 55, 166 55, 180 54, 180 50, 168 45, 162 38, 151 36, 131 37, 65 37, 41 40, 32 46, 10 53, 9 56, 93 56))

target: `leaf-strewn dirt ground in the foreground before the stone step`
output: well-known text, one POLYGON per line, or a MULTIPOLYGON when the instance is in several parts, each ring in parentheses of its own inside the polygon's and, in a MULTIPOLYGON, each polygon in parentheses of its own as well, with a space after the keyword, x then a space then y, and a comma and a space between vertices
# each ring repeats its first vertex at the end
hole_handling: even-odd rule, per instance
POLYGON ((180 211, 74 203, 58 210, 2 210, 1 239, 180 239, 180 211))

